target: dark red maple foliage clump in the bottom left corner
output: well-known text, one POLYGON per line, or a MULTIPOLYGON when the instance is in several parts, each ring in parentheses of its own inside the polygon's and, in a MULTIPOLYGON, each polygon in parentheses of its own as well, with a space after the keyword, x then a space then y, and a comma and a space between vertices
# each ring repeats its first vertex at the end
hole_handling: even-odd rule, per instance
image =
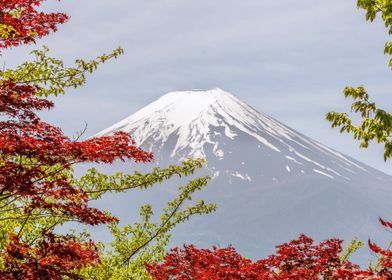
POLYGON ((99 264, 98 250, 91 241, 81 244, 72 236, 51 233, 46 233, 35 247, 12 236, 3 255, 1 279, 79 279, 75 270, 99 264))

